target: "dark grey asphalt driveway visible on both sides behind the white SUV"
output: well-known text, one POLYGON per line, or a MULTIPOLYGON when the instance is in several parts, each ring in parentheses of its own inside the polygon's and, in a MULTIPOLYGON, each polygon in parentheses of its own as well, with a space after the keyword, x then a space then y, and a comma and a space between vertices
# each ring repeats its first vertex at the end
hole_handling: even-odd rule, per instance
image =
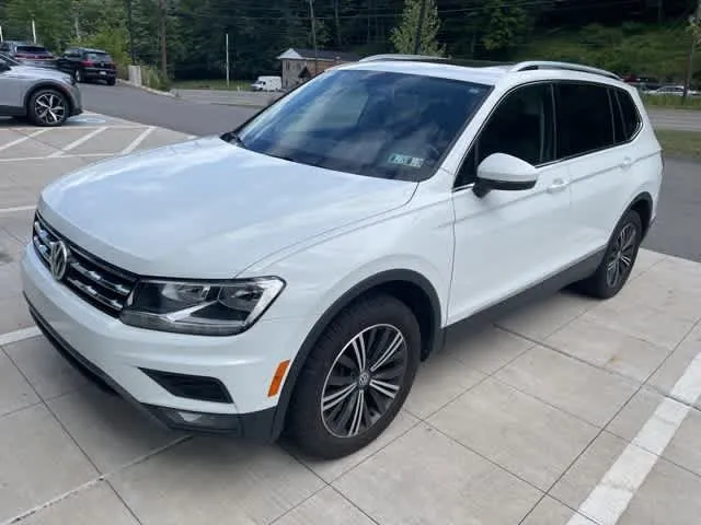
MULTIPOLYGON (((83 102, 91 112, 204 136, 233 128, 255 109, 202 104, 154 95, 128 86, 87 84, 83 102)), ((701 261, 701 164, 666 160, 657 221, 644 246, 701 261)))

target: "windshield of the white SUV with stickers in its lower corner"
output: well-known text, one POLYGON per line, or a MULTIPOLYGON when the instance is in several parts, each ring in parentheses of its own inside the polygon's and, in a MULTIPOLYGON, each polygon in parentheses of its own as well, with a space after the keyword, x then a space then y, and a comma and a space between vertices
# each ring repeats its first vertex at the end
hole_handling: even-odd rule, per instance
POLYGON ((416 74, 337 70, 238 131, 271 156, 372 177, 429 177, 490 86, 416 74))

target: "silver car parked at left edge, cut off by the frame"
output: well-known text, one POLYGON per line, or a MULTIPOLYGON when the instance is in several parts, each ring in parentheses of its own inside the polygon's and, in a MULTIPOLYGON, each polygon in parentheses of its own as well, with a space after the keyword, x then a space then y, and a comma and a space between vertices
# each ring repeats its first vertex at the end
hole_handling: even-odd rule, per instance
POLYGON ((56 127, 82 110, 72 77, 0 55, 0 116, 27 117, 37 126, 56 127))

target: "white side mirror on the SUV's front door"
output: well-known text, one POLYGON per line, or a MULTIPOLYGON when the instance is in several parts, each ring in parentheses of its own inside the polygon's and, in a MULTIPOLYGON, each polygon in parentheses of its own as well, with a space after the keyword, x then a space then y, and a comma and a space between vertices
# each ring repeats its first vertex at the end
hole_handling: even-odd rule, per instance
POLYGON ((478 166, 478 179, 472 191, 479 198, 491 190, 521 191, 536 186, 538 170, 526 161, 507 155, 493 153, 478 166))

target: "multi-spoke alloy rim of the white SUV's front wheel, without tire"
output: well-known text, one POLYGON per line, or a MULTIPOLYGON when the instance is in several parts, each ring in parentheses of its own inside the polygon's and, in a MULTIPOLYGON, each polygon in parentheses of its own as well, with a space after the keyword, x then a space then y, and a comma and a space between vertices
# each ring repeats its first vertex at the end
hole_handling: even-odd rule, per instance
POLYGON ((336 438, 354 438, 371 428, 392 406, 407 364, 404 335, 392 325, 375 325, 348 341, 326 375, 321 417, 336 438))

